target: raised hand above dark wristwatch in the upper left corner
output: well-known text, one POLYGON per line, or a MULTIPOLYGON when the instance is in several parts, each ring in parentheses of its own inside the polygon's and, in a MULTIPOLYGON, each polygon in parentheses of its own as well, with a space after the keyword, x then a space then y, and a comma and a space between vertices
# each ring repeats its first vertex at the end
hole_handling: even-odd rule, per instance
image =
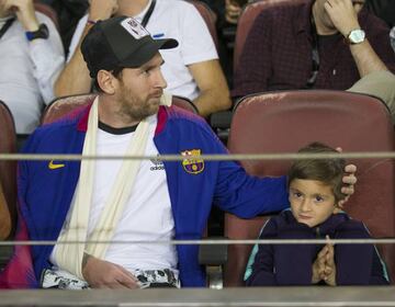
POLYGON ((33 0, 4 0, 2 4, 4 11, 16 14, 25 31, 33 32, 38 30, 38 21, 35 15, 33 0))

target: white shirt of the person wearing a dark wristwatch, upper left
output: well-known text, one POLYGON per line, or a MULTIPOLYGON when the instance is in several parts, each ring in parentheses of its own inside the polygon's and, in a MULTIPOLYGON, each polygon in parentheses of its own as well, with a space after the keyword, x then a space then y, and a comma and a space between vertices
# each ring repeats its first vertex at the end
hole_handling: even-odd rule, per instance
POLYGON ((47 39, 29 42, 18 20, 0 39, 0 100, 10 107, 18 134, 30 134, 38 125, 44 103, 54 99, 53 87, 65 62, 53 21, 40 12, 36 16, 49 30, 47 39))

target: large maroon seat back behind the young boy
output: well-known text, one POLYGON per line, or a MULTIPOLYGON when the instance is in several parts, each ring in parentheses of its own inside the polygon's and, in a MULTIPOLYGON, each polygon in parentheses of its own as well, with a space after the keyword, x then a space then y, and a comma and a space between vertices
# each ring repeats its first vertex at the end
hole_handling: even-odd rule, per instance
MULTIPOLYGON (((341 147, 345 152, 393 151, 394 128, 379 99, 342 91, 283 91, 250 95, 233 117, 228 148, 232 154, 296 152, 312 141, 341 147), (259 136, 259 137, 257 137, 259 136)), ((292 161, 241 161, 252 175, 286 174, 292 161)), ((356 194, 346 204, 351 217, 362 220, 373 237, 394 237, 394 161, 352 159, 358 167, 356 194)), ((256 239, 264 217, 251 220, 226 214, 225 236, 256 239)), ((388 269, 395 272, 392 246, 382 247, 388 269)), ((229 246, 225 285, 242 285, 251 246, 229 246)))

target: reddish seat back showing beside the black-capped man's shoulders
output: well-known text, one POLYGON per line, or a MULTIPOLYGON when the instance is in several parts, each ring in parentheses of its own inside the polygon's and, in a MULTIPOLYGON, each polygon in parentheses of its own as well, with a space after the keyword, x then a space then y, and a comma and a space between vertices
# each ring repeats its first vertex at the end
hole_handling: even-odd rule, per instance
MULTIPOLYGON (((68 95, 63 98, 57 98, 50 102, 47 107, 44 110, 41 123, 49 124, 53 123, 63 116, 70 114, 78 107, 83 107, 91 103, 97 94, 79 94, 79 95, 68 95)), ((192 113, 198 114, 198 109, 194 104, 187 98, 172 96, 172 103, 179 107, 185 109, 192 113)))

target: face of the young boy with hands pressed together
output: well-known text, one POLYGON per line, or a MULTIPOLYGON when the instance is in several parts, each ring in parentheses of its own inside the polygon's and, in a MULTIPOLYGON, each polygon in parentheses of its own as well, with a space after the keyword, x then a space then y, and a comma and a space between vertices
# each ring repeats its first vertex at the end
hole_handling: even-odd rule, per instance
POLYGON ((337 211, 331 190, 320 181, 294 179, 290 184, 290 203, 295 219, 308 227, 325 221, 337 211))

